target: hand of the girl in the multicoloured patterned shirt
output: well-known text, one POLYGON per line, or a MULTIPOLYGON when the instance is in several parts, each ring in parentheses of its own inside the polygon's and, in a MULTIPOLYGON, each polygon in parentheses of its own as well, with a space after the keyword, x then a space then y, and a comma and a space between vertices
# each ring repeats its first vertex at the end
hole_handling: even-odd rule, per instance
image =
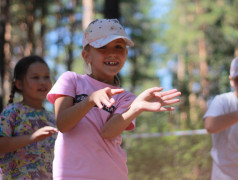
POLYGON ((36 130, 31 136, 30 136, 30 140, 32 142, 37 142, 37 141, 41 141, 49 136, 52 136, 54 133, 57 133, 58 130, 54 127, 51 126, 45 126, 43 128, 40 128, 38 130, 36 130))

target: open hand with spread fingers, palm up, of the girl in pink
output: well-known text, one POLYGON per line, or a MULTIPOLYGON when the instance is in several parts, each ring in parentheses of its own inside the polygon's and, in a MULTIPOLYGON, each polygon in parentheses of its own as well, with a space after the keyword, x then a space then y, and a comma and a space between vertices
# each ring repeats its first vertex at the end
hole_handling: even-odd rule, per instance
POLYGON ((143 91, 131 104, 131 108, 135 108, 139 111, 173 111, 173 107, 169 107, 174 103, 179 102, 177 96, 181 95, 177 89, 164 91, 162 87, 153 87, 143 91))

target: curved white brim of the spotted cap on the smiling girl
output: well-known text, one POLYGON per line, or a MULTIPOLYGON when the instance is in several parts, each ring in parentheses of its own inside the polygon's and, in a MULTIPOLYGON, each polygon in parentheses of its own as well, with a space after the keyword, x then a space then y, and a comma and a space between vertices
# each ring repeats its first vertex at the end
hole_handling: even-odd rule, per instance
POLYGON ((128 45, 130 47, 134 46, 134 43, 130 39, 128 39, 125 36, 118 36, 118 35, 110 35, 110 36, 107 36, 105 38, 98 39, 96 41, 93 41, 93 42, 89 43, 89 45, 93 46, 94 48, 100 48, 100 47, 103 47, 103 46, 107 45, 108 43, 110 43, 110 42, 112 42, 116 39, 123 39, 126 42, 126 45, 128 45))

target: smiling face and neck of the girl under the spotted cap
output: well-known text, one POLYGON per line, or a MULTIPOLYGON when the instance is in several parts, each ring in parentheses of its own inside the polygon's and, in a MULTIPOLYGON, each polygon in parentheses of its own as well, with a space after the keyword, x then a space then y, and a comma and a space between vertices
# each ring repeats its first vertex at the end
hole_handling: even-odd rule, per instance
POLYGON ((128 50, 123 39, 116 39, 101 48, 89 47, 82 52, 85 62, 91 65, 94 79, 114 84, 114 76, 122 69, 128 50))

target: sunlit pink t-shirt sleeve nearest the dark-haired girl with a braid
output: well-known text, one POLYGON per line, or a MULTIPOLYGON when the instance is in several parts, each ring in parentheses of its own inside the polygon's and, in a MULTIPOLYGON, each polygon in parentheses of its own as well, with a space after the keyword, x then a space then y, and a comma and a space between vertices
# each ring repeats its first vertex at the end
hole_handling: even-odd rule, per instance
POLYGON ((47 94, 48 101, 54 104, 58 95, 66 95, 74 98, 77 78, 78 76, 75 72, 67 71, 63 73, 47 94))

